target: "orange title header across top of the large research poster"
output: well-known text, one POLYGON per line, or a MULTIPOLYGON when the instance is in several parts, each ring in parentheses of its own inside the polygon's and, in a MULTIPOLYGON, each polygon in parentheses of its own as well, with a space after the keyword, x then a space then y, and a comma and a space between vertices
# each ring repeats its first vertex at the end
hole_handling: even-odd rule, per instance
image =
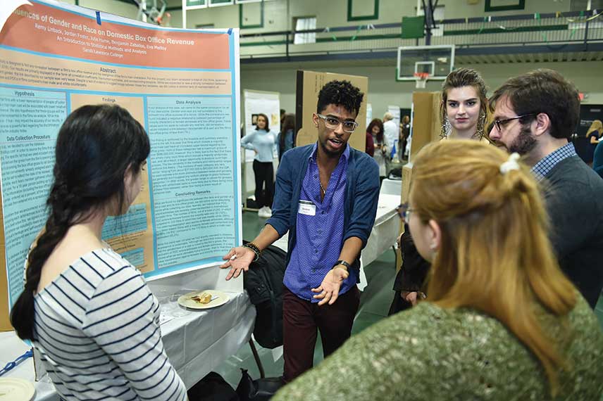
POLYGON ((0 44, 103 63, 230 68, 228 33, 165 31, 100 22, 44 4, 21 6, 6 21, 0 44))

